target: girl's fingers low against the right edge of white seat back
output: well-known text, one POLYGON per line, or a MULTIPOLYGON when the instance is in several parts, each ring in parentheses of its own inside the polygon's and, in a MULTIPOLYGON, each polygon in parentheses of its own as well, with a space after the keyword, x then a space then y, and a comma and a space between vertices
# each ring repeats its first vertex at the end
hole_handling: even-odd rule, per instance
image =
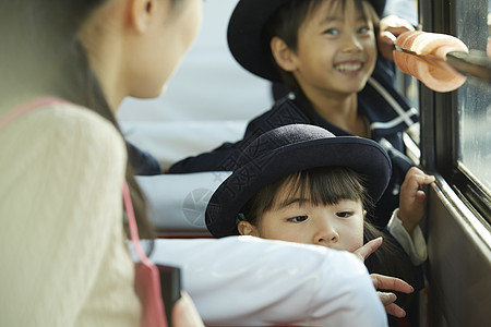
MULTIPOLYGON (((370 277, 372 278, 373 286, 376 290, 392 290, 403 293, 412 293, 415 290, 410 284, 395 277, 388 277, 379 274, 370 274, 370 277)), ((393 315, 397 318, 406 316, 406 312, 400 306, 394 303, 397 300, 396 294, 392 292, 380 291, 378 291, 376 293, 379 294, 382 304, 385 306, 385 312, 387 314, 393 315)))

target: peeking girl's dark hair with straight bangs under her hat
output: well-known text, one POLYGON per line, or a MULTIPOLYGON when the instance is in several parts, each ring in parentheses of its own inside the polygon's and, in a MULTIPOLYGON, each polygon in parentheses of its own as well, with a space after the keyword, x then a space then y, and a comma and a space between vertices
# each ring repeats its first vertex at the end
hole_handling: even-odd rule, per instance
MULTIPOLYGON (((347 167, 323 167, 292 173, 263 187, 241 210, 241 219, 259 226, 262 215, 272 208, 278 190, 291 186, 288 196, 309 198, 313 205, 334 205, 343 199, 360 201, 363 208, 373 207, 361 174, 347 167)), ((239 234, 237 227, 233 234, 239 234)), ((363 243, 379 237, 384 241, 364 262, 370 272, 395 276, 408 282, 415 279, 406 269, 409 258, 392 237, 384 234, 367 219, 363 222, 363 243)))

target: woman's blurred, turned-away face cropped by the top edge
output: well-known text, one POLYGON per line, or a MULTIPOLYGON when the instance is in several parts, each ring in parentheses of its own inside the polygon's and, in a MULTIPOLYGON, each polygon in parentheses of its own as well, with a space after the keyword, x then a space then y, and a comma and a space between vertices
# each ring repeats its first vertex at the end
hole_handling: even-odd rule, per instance
POLYGON ((137 71, 131 96, 157 97, 179 66, 181 59, 197 35, 202 21, 203 0, 155 1, 155 16, 146 41, 134 57, 137 71))

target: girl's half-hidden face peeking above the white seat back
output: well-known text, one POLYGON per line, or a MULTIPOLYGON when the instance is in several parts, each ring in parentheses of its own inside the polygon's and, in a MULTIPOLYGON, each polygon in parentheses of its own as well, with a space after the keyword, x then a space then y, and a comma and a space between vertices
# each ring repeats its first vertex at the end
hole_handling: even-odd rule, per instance
POLYGON ((314 206, 309 198, 291 196, 289 189, 288 183, 279 187, 273 206, 259 218, 258 227, 241 221, 239 232, 349 252, 363 245, 366 211, 360 201, 314 206))

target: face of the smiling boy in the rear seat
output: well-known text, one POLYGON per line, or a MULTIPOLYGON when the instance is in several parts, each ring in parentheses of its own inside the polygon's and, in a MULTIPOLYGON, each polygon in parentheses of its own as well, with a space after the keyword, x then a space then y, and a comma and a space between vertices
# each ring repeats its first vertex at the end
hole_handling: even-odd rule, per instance
MULTIPOLYGON (((367 5, 367 4, 364 4, 367 5)), ((376 60, 373 22, 355 2, 324 1, 298 31, 291 71, 306 94, 352 94, 361 90, 376 60)))

